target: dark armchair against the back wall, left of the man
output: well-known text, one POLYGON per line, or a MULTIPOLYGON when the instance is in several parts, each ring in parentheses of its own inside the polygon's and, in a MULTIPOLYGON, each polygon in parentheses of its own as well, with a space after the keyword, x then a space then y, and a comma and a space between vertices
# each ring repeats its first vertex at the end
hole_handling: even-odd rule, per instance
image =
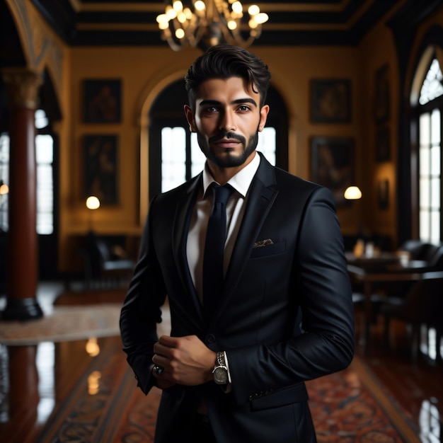
POLYGON ((84 251, 85 280, 88 287, 115 286, 127 282, 134 270, 134 260, 126 257, 121 246, 112 245, 94 232, 89 232, 84 251))

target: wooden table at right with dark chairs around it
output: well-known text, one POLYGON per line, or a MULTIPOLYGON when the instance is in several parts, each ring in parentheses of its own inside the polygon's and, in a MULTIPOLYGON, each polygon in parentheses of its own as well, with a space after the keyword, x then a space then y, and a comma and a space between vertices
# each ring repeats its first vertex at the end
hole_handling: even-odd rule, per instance
POLYGON ((347 270, 355 282, 362 283, 364 293, 363 340, 367 350, 373 309, 374 284, 383 282, 411 282, 423 279, 442 278, 443 271, 435 270, 423 260, 401 263, 396 253, 381 253, 374 257, 356 257, 346 253, 347 270))

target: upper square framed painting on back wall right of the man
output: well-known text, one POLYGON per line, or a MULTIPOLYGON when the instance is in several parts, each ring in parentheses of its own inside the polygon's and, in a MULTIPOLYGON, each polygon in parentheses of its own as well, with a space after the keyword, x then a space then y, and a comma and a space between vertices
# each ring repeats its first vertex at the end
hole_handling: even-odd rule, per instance
POLYGON ((351 82, 347 79, 311 80, 311 122, 349 123, 351 82))

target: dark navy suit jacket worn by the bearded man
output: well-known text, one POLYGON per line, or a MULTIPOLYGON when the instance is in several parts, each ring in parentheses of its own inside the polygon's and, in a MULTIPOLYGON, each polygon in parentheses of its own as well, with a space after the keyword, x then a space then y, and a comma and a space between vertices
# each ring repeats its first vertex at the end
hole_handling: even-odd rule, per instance
POLYGON ((163 390, 156 442, 192 441, 202 396, 219 442, 315 442, 304 381, 345 369, 354 354, 354 309, 333 197, 261 156, 224 292, 214 316, 204 319, 185 253, 200 186, 201 175, 151 202, 122 306, 122 343, 147 393, 156 323, 168 297, 171 335, 197 335, 210 349, 226 350, 232 390, 213 382, 163 390), (267 239, 272 244, 258 247, 267 239))

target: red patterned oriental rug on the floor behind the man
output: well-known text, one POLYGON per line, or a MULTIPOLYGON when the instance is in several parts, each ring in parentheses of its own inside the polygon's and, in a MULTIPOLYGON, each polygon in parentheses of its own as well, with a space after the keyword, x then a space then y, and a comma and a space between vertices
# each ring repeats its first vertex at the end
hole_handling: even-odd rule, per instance
MULTIPOLYGON (((120 343, 114 347, 115 352, 103 349, 93 360, 36 443, 154 442, 161 391, 154 388, 144 396, 120 343), (91 374, 100 374, 100 389, 94 395, 88 393, 91 374)), ((319 443, 420 443, 408 417, 358 357, 345 371, 307 385, 319 443)))

